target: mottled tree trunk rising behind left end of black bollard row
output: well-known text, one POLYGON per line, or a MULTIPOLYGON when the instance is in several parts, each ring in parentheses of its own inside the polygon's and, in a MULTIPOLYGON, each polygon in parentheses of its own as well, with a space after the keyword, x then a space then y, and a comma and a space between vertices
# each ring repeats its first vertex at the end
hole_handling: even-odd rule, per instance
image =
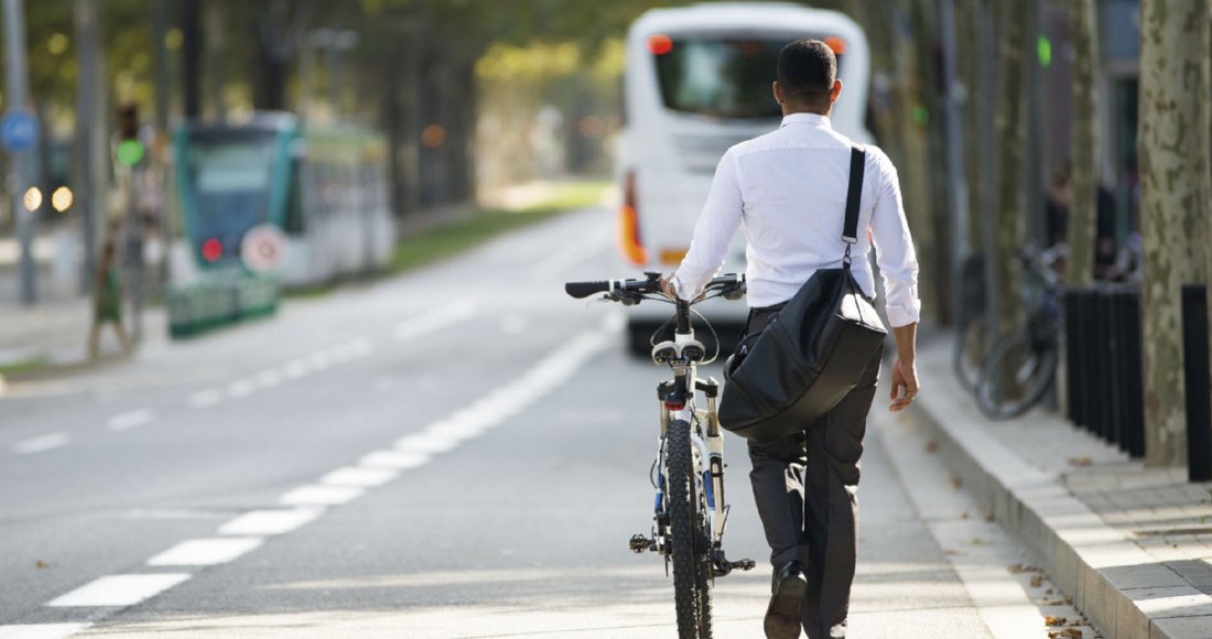
POLYGON ((1094 273, 1094 234, 1098 189, 1098 32, 1094 0, 1070 5, 1073 23, 1073 137, 1069 156, 1069 257, 1065 281, 1090 286, 1094 273))

